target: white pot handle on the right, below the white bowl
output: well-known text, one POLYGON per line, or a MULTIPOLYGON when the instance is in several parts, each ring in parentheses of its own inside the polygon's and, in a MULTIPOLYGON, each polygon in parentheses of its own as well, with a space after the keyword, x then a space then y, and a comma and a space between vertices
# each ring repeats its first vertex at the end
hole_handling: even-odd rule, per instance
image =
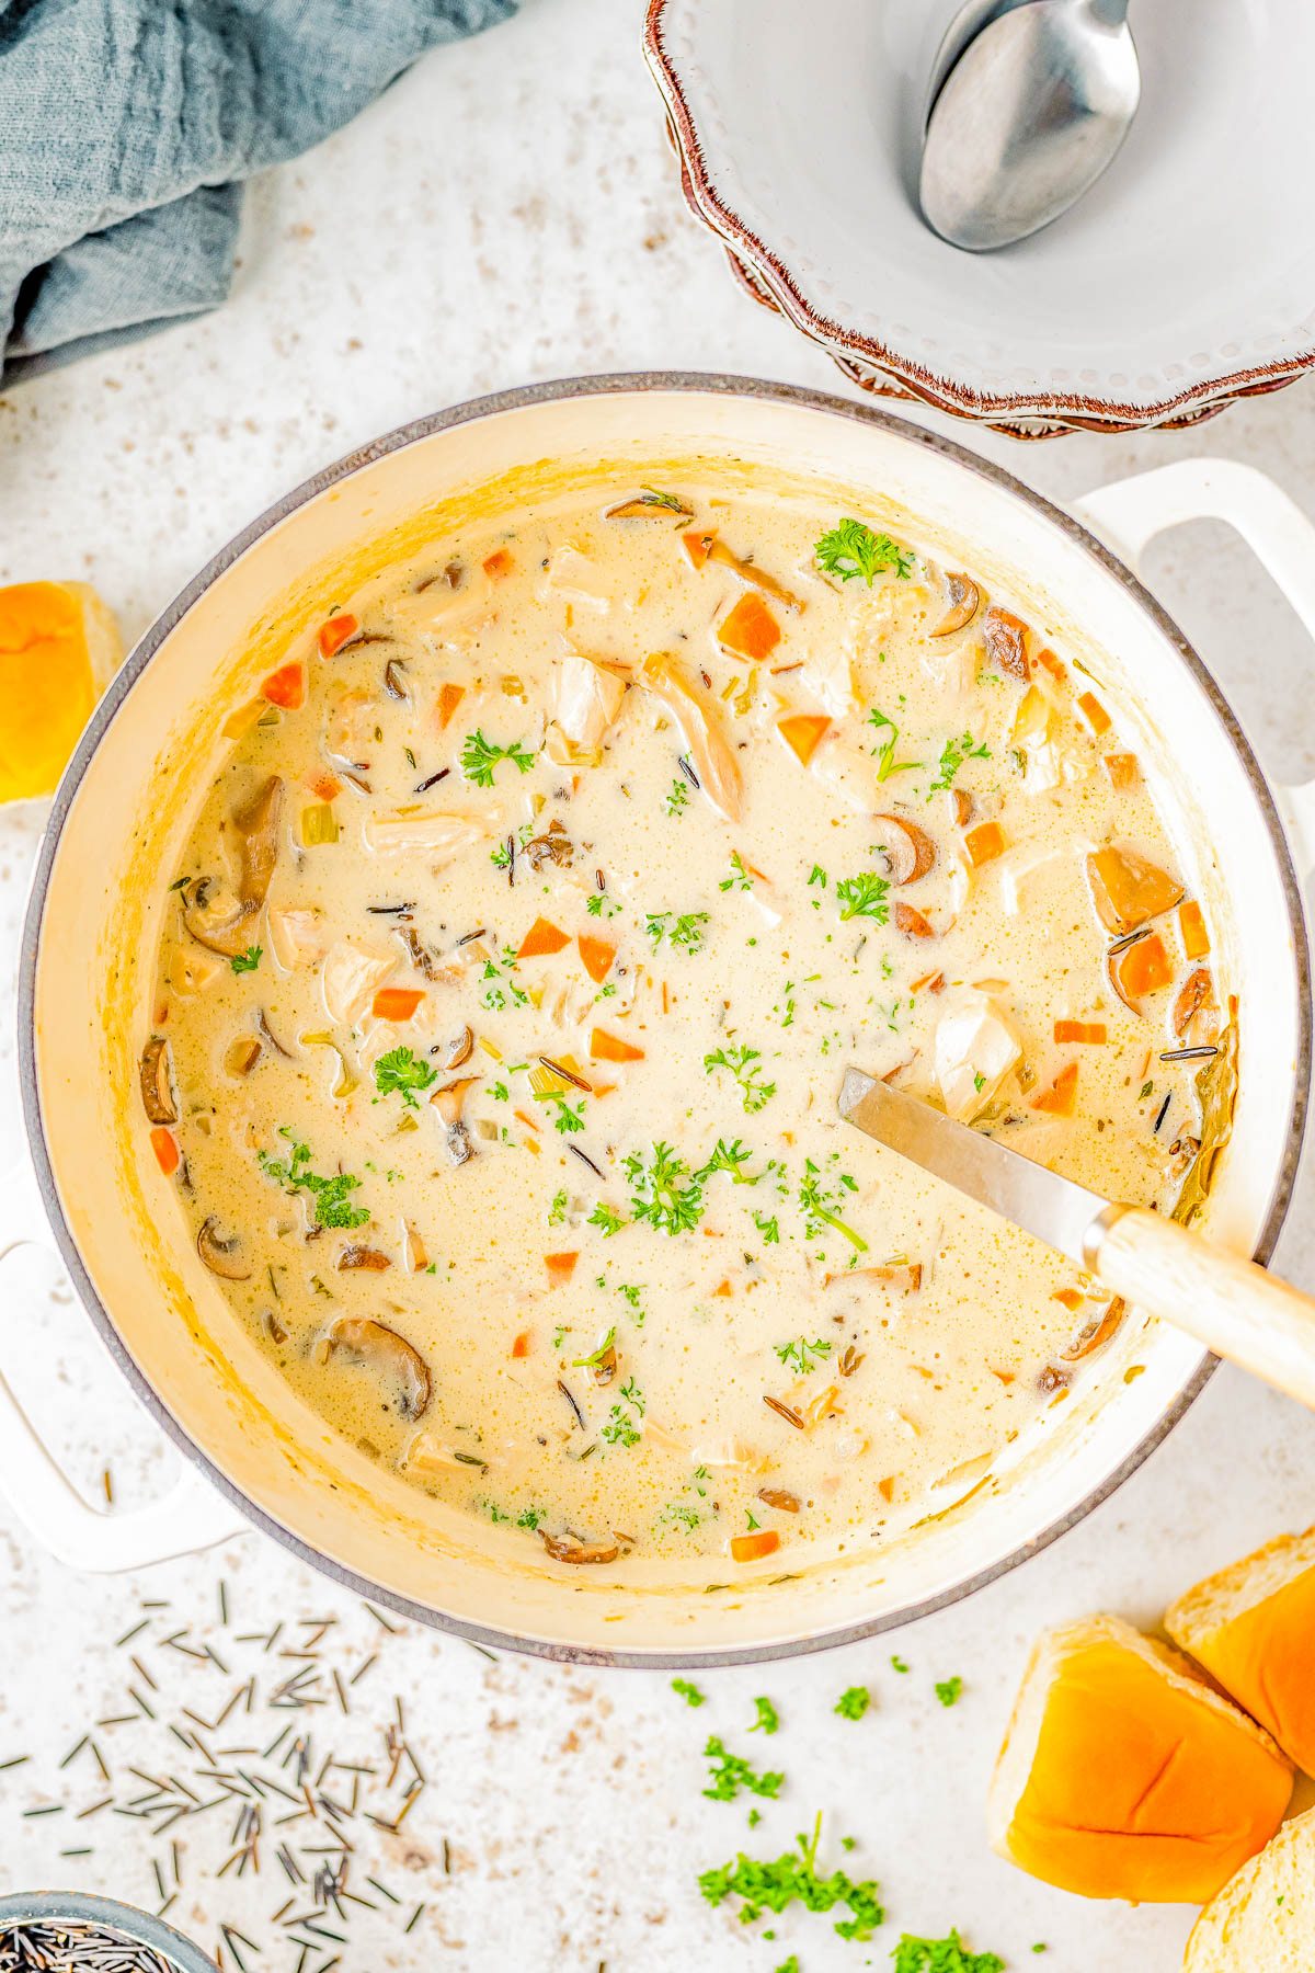
MULTIPOLYGON (((1226 521, 1315 637, 1315 523, 1266 474, 1236 460, 1177 460, 1071 503, 1132 570, 1155 535, 1183 521, 1226 521)), ((1276 787, 1301 876, 1315 870, 1315 781, 1276 787)))

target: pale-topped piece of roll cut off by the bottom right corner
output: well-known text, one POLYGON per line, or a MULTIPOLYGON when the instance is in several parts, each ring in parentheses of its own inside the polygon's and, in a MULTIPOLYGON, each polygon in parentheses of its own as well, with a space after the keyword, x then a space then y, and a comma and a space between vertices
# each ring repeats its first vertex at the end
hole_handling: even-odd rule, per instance
POLYGON ((1309 1973, 1315 1967, 1315 1809, 1283 1823, 1205 1908, 1183 1973, 1309 1973))

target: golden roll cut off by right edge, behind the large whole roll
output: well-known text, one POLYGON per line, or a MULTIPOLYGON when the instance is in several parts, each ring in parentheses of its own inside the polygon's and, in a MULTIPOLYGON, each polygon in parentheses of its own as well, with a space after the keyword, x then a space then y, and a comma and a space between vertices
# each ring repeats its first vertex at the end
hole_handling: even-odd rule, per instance
POLYGON ((1315 1527, 1197 1582, 1165 1630, 1315 1774, 1315 1527))

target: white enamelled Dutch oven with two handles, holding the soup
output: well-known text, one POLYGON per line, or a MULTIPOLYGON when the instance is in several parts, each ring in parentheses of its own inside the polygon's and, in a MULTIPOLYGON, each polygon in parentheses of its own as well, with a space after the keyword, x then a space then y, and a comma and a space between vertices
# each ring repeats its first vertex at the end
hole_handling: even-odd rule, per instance
MULTIPOLYGON (((718 1594, 670 1571, 582 1580, 337 1442, 244 1338, 181 1237, 170 1184, 146 1150, 136 1052, 150 1026, 166 874, 219 758, 215 708, 250 693, 325 596, 347 594, 455 513, 520 503, 603 468, 653 477, 658 460, 694 458, 724 462, 729 475, 806 481, 844 511, 899 503, 950 566, 1069 625, 1134 708, 1177 850, 1216 900, 1222 977, 1240 992, 1240 1097, 1209 1223, 1224 1245, 1268 1259, 1307 1103, 1297 876, 1232 712, 1128 564, 1157 529, 1218 515, 1315 629, 1315 531, 1297 509, 1244 468, 1169 466, 1084 503, 1084 521, 1118 543, 1116 560, 998 468, 840 399, 666 375, 483 399, 329 468, 225 548, 132 653, 55 797, 20 990, 35 1196, 0 1190, 0 1215, 16 1215, 0 1223, 0 1255, 49 1219, 110 1353, 193 1462, 156 1507, 97 1513, 0 1385, 0 1484, 65 1561, 134 1567, 254 1523, 363 1594, 489 1644, 629 1665, 771 1657, 907 1622, 1033 1555, 1147 1456, 1209 1377, 1212 1359, 1187 1336, 1134 1320, 986 1484, 962 1499, 946 1488, 936 1511, 899 1537, 718 1594)), ((1289 801, 1297 839, 1303 811, 1315 811, 1311 791, 1289 801)))

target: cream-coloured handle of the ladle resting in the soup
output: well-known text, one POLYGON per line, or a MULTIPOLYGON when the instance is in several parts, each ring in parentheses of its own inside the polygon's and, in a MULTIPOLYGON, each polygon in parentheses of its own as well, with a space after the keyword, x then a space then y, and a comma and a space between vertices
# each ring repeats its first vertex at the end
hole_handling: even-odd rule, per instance
POLYGON ((1142 1206, 1100 1215, 1086 1265, 1106 1288, 1315 1411, 1309 1294, 1142 1206))

